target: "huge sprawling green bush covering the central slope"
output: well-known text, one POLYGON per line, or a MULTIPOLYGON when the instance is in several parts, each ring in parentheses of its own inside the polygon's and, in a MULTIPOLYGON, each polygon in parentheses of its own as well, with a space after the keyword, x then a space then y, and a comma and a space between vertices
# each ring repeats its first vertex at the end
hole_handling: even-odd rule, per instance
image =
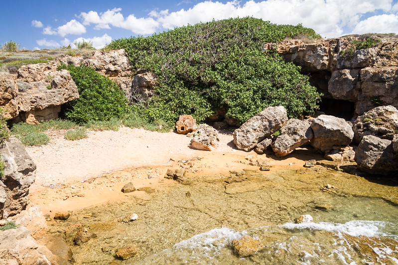
POLYGON ((114 40, 107 49, 126 49, 133 70, 158 76, 155 95, 135 108, 145 119, 172 124, 192 114, 201 122, 222 107, 244 122, 267 106, 283 105, 289 117, 316 109, 320 95, 300 68, 263 51, 265 43, 293 36, 319 38, 301 25, 246 17, 114 40))

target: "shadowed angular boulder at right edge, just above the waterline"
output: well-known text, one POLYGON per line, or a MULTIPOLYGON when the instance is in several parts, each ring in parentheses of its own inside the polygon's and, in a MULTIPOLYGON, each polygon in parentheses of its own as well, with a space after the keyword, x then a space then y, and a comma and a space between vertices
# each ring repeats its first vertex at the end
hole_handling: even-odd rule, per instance
POLYGON ((393 143, 373 135, 366 135, 355 150, 355 162, 362 171, 371 174, 393 175, 398 173, 398 155, 393 143))

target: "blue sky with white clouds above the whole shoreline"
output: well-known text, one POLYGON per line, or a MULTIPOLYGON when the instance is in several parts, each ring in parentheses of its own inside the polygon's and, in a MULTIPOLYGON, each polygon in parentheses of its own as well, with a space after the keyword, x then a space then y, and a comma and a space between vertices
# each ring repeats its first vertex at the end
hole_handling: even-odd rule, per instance
POLYGON ((398 0, 0 0, 0 44, 22 49, 67 46, 85 39, 102 48, 113 39, 151 35, 228 17, 302 23, 322 37, 398 34, 398 0))

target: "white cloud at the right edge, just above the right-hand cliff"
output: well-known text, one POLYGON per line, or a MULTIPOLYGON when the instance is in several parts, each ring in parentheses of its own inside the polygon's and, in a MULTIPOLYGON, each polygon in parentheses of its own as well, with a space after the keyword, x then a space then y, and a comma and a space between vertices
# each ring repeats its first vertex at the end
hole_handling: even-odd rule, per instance
POLYGON ((371 16, 360 21, 353 32, 355 34, 364 33, 396 33, 398 34, 398 15, 383 14, 371 16))

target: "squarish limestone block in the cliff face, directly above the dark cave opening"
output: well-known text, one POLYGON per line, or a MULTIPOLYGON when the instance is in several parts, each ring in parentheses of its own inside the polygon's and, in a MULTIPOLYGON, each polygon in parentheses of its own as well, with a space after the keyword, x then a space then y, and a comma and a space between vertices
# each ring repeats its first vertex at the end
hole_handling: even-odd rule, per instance
POLYGON ((355 102, 358 98, 356 85, 359 80, 359 69, 336 70, 329 80, 328 90, 335 99, 355 102))

